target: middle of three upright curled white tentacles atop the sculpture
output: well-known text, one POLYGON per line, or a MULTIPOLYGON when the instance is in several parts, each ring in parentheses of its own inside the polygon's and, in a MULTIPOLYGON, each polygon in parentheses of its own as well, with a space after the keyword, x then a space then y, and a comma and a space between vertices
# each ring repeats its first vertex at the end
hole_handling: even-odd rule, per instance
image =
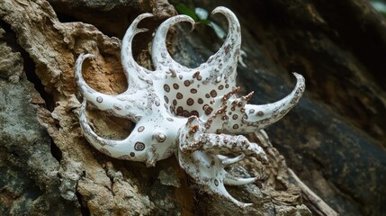
POLYGON ((166 49, 166 35, 170 27, 176 23, 188 22, 194 27, 194 20, 187 15, 176 15, 168 18, 164 23, 161 23, 156 31, 156 35, 153 39, 153 44, 151 47, 151 57, 153 60, 153 65, 156 69, 160 67, 171 67, 171 68, 183 68, 184 66, 177 63, 169 54, 166 49), (173 67, 172 67, 173 66, 173 67))

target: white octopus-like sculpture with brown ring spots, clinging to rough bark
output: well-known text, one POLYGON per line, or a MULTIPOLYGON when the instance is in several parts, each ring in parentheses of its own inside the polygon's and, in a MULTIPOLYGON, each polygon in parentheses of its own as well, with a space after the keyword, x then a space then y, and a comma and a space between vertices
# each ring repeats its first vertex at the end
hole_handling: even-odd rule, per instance
POLYGON ((304 91, 304 79, 294 73, 297 84, 292 93, 275 103, 247 104, 253 93, 238 97, 236 67, 240 54, 241 32, 238 19, 228 8, 217 7, 212 14, 223 14, 229 22, 228 36, 220 50, 207 62, 189 68, 175 62, 166 49, 166 34, 175 23, 192 18, 177 15, 161 23, 154 36, 151 55, 154 71, 140 67, 131 52, 133 37, 146 29, 138 23, 152 14, 141 14, 126 31, 121 44, 121 62, 128 79, 128 89, 117 95, 96 92, 85 83, 82 64, 91 54, 76 60, 75 76, 85 98, 79 121, 85 138, 104 154, 120 159, 145 162, 155 166, 158 160, 175 154, 180 166, 207 193, 219 195, 240 207, 224 184, 241 185, 256 177, 237 178, 226 166, 243 157, 267 162, 265 151, 242 135, 278 121, 298 103, 304 91), (136 123, 123 140, 104 139, 91 129, 85 117, 86 103, 102 111, 136 123))

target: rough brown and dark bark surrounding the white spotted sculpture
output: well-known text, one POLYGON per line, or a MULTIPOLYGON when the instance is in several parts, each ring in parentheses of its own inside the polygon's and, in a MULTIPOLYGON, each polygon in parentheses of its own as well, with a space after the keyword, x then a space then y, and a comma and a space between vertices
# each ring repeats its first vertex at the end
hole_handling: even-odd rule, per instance
MULTIPOLYGON (((208 11, 224 5, 207 2, 184 4, 208 11)), ((86 143, 79 129, 76 57, 98 53, 96 61, 86 66, 85 80, 104 93, 122 92, 127 87, 120 62, 124 31, 145 12, 155 14, 143 23, 154 30, 176 14, 171 4, 3 0, 0 214, 310 215, 311 210, 323 215, 320 208, 329 205, 342 215, 382 215, 386 211, 385 19, 364 0, 328 4, 246 0, 226 6, 242 26, 238 79, 243 91, 256 91, 251 103, 274 102, 288 94, 292 71, 307 81, 307 94, 296 109, 266 130, 274 148, 264 132, 251 136, 265 148, 270 163, 256 166, 256 161, 247 159, 243 166, 262 175, 262 180, 229 187, 230 193, 253 202, 253 207, 242 211, 202 193, 175 157, 152 168, 106 157, 86 143), (287 165, 309 188, 287 172, 287 165), (316 204, 310 191, 327 204, 316 204)), ((220 15, 213 19, 224 23, 220 15)), ((172 41, 175 59, 184 65, 199 65, 220 46, 209 27, 198 25, 191 33, 183 27, 176 27, 168 42, 172 41)), ((145 67, 151 67, 150 40, 148 33, 134 41, 136 56, 145 67)), ((101 134, 119 139, 130 133, 130 122, 99 112, 90 111, 89 116, 101 134)), ((232 172, 247 175, 246 169, 234 166, 232 172)))

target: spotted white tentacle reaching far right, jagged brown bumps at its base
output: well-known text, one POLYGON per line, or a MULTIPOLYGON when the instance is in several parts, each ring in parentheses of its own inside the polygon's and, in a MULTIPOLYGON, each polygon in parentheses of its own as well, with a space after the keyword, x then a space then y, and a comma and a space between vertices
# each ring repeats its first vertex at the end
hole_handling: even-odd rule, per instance
POLYGON ((204 116, 211 119, 210 128, 207 132, 216 132, 216 130, 220 129, 220 132, 246 134, 264 129, 279 121, 299 102, 305 89, 303 76, 297 73, 293 73, 293 75, 296 77, 297 83, 292 93, 275 103, 263 105, 247 104, 253 92, 246 96, 230 98, 237 92, 238 88, 235 88, 222 98, 217 98, 211 108, 220 109, 219 107, 226 106, 226 109, 220 114, 215 115, 214 118, 204 116))

